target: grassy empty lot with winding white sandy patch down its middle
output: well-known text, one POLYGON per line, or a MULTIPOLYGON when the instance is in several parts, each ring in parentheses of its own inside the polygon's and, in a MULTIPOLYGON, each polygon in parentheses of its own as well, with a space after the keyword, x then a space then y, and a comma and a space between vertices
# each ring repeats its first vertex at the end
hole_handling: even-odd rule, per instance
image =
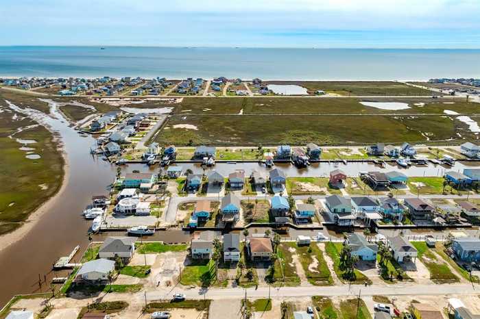
POLYGON ((312 285, 332 285, 333 279, 326 265, 324 256, 320 248, 315 243, 309 246, 297 246, 294 242, 289 242, 289 246, 296 249, 305 275, 312 285), (317 266, 314 267, 315 260, 317 266), (311 266, 312 265, 312 266, 311 266))

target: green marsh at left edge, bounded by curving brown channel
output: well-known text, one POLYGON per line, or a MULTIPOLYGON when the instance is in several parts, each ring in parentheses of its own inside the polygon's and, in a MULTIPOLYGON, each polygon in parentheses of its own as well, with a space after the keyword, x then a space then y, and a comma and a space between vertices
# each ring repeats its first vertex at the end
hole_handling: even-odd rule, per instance
MULTIPOLYGON (((0 98, 0 106, 5 102, 0 98)), ((32 120, 11 120, 14 113, 0 114, 0 234, 19 227, 29 214, 53 196, 62 183, 63 157, 53 136, 42 126, 25 129, 9 138, 16 129, 36 124, 32 120), (36 140, 34 148, 40 159, 25 158, 26 152, 16 138, 36 140)), ((22 114, 17 116, 23 117, 22 114)))

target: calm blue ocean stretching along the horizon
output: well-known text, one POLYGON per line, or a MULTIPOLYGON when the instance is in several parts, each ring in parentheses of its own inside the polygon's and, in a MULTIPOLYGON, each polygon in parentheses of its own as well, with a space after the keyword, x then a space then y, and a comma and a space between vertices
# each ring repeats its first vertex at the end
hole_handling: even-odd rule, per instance
POLYGON ((426 80, 480 77, 480 50, 0 47, 1 77, 426 80))

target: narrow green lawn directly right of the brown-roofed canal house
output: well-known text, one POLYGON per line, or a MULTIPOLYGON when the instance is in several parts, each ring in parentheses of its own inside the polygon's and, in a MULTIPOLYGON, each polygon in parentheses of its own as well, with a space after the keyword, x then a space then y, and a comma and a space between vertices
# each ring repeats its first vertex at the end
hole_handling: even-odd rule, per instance
POLYGON ((289 247, 289 244, 286 243, 278 245, 278 258, 275 261, 275 273, 272 281, 278 285, 296 286, 300 285, 300 277, 297 275, 289 247))

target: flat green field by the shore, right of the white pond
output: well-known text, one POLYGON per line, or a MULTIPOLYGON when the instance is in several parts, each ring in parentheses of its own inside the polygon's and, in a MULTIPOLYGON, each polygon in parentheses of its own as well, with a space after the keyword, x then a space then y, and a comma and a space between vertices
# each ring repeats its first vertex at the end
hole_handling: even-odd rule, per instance
MULTIPOLYGON (((295 84, 307 88, 309 94, 316 90, 340 95, 376 95, 376 96, 402 96, 402 95, 433 95, 430 90, 413 88, 407 84, 394 81, 268 81, 265 84, 295 84)), ((438 93, 437 93, 438 94, 438 93)))

